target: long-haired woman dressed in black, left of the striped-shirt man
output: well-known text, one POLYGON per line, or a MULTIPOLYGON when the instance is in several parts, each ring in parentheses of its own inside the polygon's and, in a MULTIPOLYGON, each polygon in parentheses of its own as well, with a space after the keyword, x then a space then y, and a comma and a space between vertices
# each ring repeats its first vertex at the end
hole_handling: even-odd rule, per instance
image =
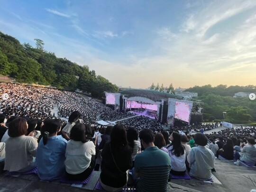
POLYGON ((132 168, 132 151, 128 145, 126 130, 116 124, 110 134, 110 142, 102 149, 100 183, 108 192, 119 192, 128 181, 128 170, 132 168))

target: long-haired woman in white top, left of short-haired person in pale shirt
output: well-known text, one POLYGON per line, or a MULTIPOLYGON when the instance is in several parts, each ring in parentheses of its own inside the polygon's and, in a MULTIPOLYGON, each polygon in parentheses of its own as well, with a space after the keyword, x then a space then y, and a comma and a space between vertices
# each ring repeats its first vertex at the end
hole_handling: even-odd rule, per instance
POLYGON ((168 154, 171 159, 171 174, 185 175, 186 174, 186 152, 185 147, 181 143, 181 135, 173 132, 170 136, 172 143, 167 146, 168 154))

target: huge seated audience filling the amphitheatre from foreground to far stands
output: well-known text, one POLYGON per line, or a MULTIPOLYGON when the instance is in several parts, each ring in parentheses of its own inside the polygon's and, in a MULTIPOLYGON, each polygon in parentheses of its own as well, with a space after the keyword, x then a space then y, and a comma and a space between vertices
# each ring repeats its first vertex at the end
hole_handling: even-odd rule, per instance
POLYGON ((0 89, 10 95, 2 101, 0 115, 0 156, 5 157, 4 170, 10 172, 37 167, 44 181, 83 181, 93 171, 95 158, 101 157, 100 183, 105 191, 122 190, 131 170, 137 191, 164 192, 172 175, 189 173, 211 180, 215 155, 256 163, 256 128, 204 135, 201 130, 218 126, 206 124, 174 127, 168 133, 154 119, 139 116, 94 129, 91 124, 97 118, 114 119, 115 113, 91 98, 20 84, 1 83, 0 89), (68 119, 63 126, 51 115, 54 105, 68 119))

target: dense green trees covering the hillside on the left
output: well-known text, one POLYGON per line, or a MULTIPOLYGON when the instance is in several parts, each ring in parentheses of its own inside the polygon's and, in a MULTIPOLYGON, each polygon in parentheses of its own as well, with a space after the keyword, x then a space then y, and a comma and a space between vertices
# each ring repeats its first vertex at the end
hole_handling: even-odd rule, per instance
POLYGON ((0 32, 0 74, 18 82, 52 85, 70 90, 81 89, 100 98, 103 91, 118 91, 118 87, 88 66, 80 66, 66 58, 58 58, 44 50, 44 42, 35 39, 36 47, 0 32))

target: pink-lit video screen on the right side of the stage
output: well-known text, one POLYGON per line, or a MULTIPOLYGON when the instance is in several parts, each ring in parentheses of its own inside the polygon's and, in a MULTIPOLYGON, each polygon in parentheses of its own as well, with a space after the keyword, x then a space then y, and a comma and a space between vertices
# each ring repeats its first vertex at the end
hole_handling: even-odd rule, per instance
POLYGON ((175 104, 174 118, 189 122, 190 106, 188 103, 178 102, 175 104))

